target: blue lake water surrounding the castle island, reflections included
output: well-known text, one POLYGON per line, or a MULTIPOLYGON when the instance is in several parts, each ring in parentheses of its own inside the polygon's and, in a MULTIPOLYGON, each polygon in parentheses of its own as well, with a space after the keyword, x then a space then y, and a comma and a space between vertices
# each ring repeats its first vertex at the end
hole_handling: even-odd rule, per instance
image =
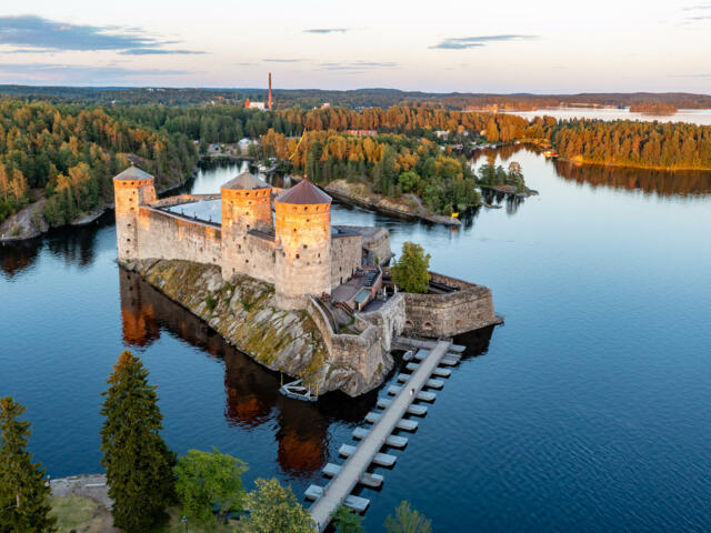
MULTIPOLYGON (((487 155, 487 154, 484 154, 487 155)), ((420 242, 433 270, 491 286, 505 324, 468 355, 371 499, 435 532, 711 531, 711 180, 547 161, 521 147, 539 197, 457 230, 334 205, 333 222, 420 242)), ((481 160, 479 161, 481 162, 481 160)), ((237 165, 190 185, 217 192, 237 165)), ((279 374, 116 264, 110 217, 0 248, 0 394, 27 405, 52 476, 100 471, 100 392, 123 349, 150 369, 173 450, 217 446, 299 497, 378 392, 286 400, 279 374)), ((392 379, 392 378, 391 378, 392 379)))

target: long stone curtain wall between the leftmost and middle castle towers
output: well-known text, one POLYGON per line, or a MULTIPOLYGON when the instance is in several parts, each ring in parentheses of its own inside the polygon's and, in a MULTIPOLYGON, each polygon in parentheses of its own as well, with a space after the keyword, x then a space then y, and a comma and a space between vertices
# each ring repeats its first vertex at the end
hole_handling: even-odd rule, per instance
POLYGON ((220 265, 220 228, 178 214, 141 207, 134 259, 178 259, 220 265))

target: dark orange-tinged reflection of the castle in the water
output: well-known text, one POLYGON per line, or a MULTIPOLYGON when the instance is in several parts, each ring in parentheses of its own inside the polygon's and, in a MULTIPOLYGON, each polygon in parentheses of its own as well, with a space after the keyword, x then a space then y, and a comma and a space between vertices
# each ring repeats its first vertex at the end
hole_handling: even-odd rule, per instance
MULTIPOLYGON (((329 461, 329 426, 336 421, 360 422, 374 408, 377 391, 358 399, 331 393, 318 403, 279 394, 279 374, 270 372, 230 344, 192 313, 170 301, 140 275, 119 269, 123 342, 146 348, 161 330, 224 361, 224 418, 230 425, 252 430, 276 422, 277 461, 293 477, 307 477, 329 461)), ((465 355, 485 352, 493 326, 468 334, 465 355)))

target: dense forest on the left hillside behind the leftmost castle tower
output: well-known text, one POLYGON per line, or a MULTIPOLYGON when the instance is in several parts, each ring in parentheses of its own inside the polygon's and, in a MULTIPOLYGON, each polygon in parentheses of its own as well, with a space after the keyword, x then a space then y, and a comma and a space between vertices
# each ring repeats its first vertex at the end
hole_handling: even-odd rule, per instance
POLYGON ((0 101, 0 222, 47 198, 43 215, 61 225, 113 201, 111 179, 129 160, 174 183, 194 164, 182 133, 162 133, 100 108, 0 101))

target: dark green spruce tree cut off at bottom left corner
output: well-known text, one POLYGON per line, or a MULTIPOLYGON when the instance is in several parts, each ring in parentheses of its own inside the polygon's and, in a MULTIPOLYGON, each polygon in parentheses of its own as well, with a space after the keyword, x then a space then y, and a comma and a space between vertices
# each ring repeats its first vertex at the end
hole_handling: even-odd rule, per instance
POLYGON ((12 398, 0 399, 0 532, 56 531, 44 469, 26 450, 32 430, 18 420, 23 412, 12 398))

